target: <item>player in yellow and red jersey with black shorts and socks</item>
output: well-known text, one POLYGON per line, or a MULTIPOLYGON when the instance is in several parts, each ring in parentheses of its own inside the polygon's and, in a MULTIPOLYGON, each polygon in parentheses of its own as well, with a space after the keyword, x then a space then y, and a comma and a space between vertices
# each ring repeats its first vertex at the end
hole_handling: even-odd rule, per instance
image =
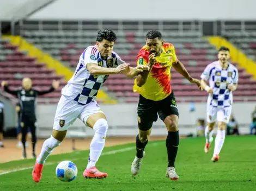
POLYGON ((178 60, 173 44, 164 43, 162 34, 156 30, 147 33, 146 45, 139 50, 137 56, 137 65, 147 65, 150 71, 138 74, 133 87, 133 91, 139 93, 137 111, 139 134, 136 137, 137 153, 131 166, 131 173, 133 176, 139 173, 145 156, 144 148, 148 143, 153 122, 156 122, 158 118, 158 113, 168 130, 166 177, 170 180, 178 180, 179 176, 175 172, 174 162, 179 147, 179 112, 170 86, 170 68, 173 66, 177 72, 191 83, 196 84, 202 91, 200 81, 190 77, 184 65, 178 60))

